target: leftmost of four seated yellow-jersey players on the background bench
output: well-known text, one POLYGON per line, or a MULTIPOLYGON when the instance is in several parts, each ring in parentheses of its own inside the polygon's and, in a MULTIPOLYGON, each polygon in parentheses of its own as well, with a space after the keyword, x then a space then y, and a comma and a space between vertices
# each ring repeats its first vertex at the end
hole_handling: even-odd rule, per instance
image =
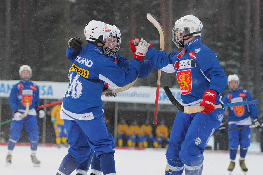
POLYGON ((126 123, 124 118, 121 118, 121 123, 117 125, 117 138, 118 138, 118 146, 123 146, 123 140, 127 140, 127 145, 131 147, 132 141, 129 136, 129 126, 126 123))

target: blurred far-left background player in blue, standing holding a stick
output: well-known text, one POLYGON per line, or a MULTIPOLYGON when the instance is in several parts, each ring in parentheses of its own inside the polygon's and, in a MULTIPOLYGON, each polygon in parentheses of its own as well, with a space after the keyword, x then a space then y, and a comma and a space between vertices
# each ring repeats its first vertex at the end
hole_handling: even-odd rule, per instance
MULTIPOLYGON (((36 157, 39 131, 37 125, 37 108, 39 106, 39 87, 30 81, 32 69, 28 65, 23 65, 19 68, 19 76, 21 81, 15 84, 10 92, 9 105, 12 108, 14 121, 10 125, 10 136, 8 140, 8 155, 6 157, 6 165, 11 164, 12 152, 16 142, 20 139, 23 125, 27 131, 27 136, 30 141, 31 160, 35 167, 40 166, 40 161, 36 157), (20 118, 20 115, 25 113, 26 102, 29 101, 29 111, 25 118, 20 118)), ((43 110, 38 111, 39 118, 45 116, 43 110)))

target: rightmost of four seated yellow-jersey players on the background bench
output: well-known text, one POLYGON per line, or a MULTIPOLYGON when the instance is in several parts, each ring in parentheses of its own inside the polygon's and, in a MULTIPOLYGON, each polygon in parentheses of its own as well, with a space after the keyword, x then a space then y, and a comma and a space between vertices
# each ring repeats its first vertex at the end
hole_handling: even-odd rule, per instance
POLYGON ((165 126, 165 120, 162 118, 160 125, 156 127, 156 138, 158 140, 159 148, 168 147, 170 142, 168 135, 168 127, 165 126))

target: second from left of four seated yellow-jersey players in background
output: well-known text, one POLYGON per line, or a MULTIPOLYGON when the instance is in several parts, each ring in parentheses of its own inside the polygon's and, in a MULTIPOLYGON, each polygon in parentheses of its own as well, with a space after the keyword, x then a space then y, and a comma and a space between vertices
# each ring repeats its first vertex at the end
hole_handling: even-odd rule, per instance
POLYGON ((136 119, 134 119, 132 125, 129 126, 129 134, 132 139, 132 147, 135 147, 137 141, 139 147, 143 147, 143 139, 142 139, 143 133, 136 119))

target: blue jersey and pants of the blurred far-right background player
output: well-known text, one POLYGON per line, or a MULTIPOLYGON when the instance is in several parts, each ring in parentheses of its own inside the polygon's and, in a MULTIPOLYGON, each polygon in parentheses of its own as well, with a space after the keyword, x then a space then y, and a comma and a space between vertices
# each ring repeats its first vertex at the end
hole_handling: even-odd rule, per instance
MULTIPOLYGON (((250 93, 247 90, 241 88, 238 88, 236 91, 230 90, 222 99, 224 103, 235 103, 240 101, 251 100, 253 100, 253 97, 250 95, 250 93)), ((229 129, 235 129, 239 127, 252 125, 251 119, 254 120, 257 118, 257 116, 258 109, 255 104, 230 107, 228 113, 229 129)), ((238 145, 240 144, 241 149, 247 149, 250 145, 250 135, 251 128, 229 131, 229 148, 237 150, 238 145)), ((230 157, 234 160, 236 155, 230 154, 230 157)))

